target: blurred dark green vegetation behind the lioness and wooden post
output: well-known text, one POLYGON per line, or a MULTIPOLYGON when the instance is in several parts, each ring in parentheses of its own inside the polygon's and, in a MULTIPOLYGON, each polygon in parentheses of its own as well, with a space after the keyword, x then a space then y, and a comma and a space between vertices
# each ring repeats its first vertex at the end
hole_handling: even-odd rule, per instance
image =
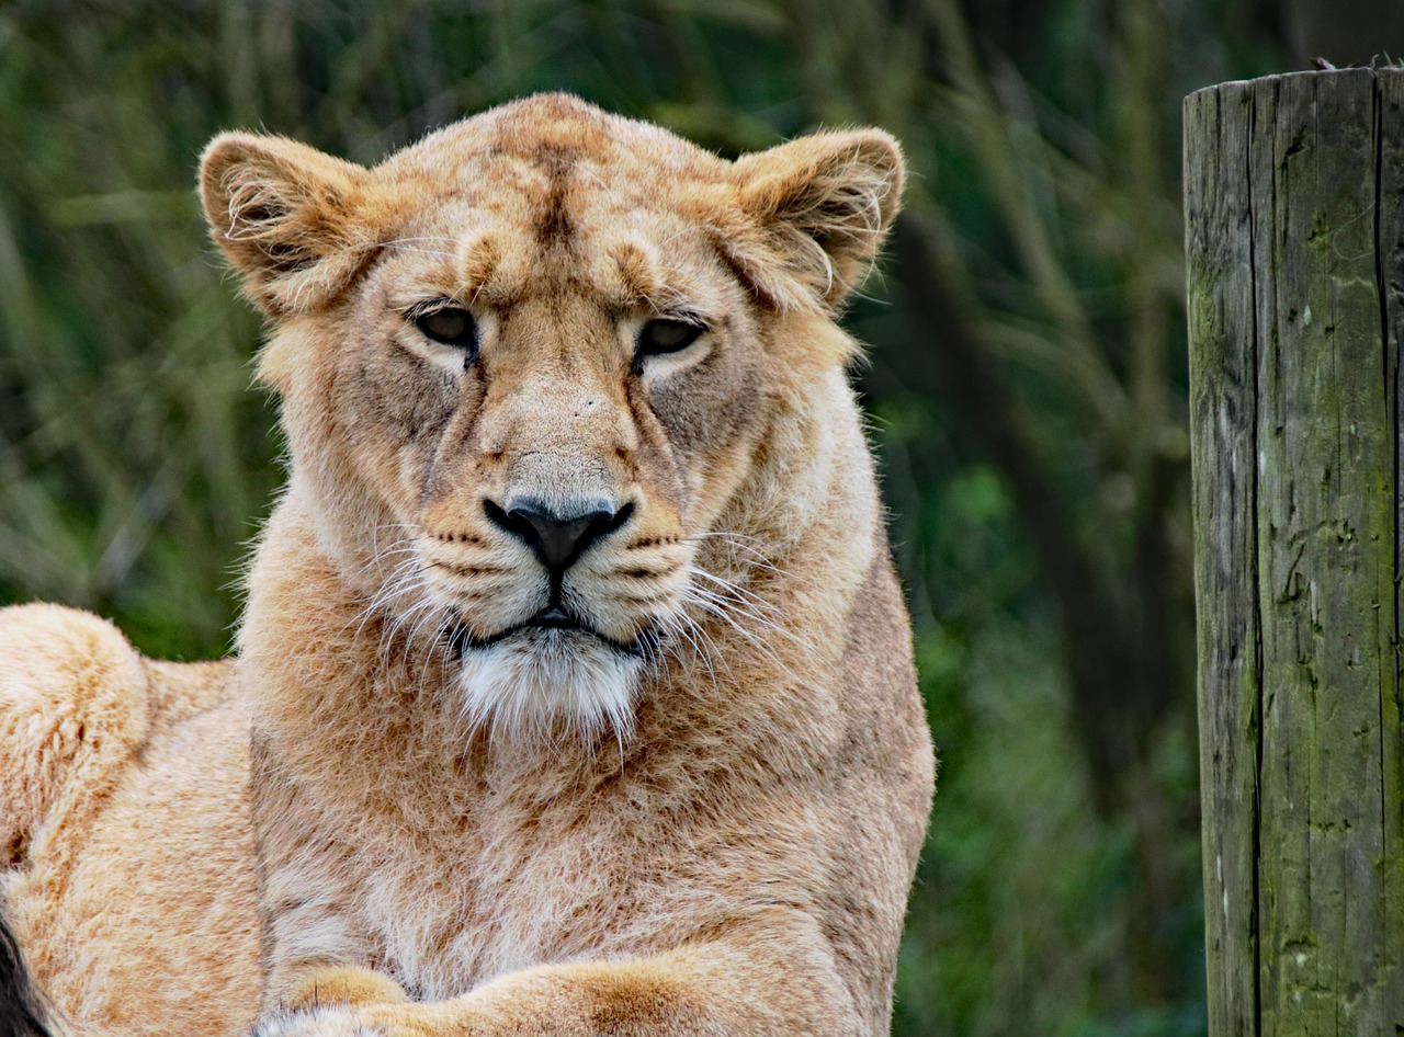
POLYGON ((215 132, 369 163, 545 88, 724 154, 882 125, 914 175, 848 326, 942 758, 896 1031, 1203 1033, 1179 102, 1390 52, 1383 0, 10 3, 0 602, 229 647, 279 443, 215 132))

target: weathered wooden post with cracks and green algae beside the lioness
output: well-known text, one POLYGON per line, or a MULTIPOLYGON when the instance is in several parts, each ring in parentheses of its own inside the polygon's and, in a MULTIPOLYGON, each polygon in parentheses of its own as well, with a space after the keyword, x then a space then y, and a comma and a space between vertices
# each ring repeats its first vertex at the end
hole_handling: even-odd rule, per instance
POLYGON ((1404 1034, 1404 69, 1185 101, 1209 1020, 1404 1034))

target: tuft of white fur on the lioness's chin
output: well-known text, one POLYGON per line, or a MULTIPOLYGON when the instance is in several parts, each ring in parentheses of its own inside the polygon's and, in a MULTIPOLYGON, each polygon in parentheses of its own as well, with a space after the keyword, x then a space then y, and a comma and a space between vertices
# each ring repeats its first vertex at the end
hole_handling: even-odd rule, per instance
POLYGON ((459 688, 473 728, 514 742, 633 730, 642 660, 587 634, 534 631, 463 653, 459 688))

